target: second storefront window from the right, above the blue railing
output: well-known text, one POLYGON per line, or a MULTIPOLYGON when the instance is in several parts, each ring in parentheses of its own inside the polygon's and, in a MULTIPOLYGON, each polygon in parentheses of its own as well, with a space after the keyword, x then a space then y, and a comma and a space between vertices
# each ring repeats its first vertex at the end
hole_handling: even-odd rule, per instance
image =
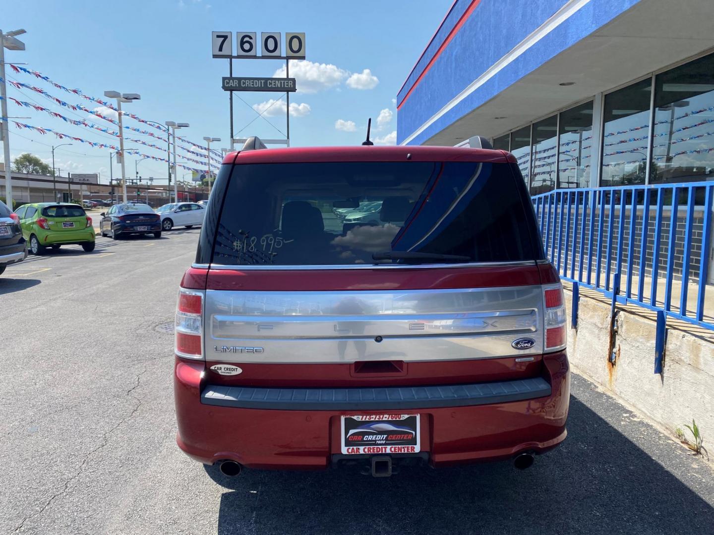
POLYGON ((651 89, 647 78, 605 95, 600 185, 645 183, 651 89))

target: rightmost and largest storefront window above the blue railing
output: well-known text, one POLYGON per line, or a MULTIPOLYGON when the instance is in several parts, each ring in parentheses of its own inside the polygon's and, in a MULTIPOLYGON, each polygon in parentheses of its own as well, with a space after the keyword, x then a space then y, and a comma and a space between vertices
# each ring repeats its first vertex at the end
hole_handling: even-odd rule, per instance
POLYGON ((714 54, 655 77, 650 183, 714 178, 714 54))

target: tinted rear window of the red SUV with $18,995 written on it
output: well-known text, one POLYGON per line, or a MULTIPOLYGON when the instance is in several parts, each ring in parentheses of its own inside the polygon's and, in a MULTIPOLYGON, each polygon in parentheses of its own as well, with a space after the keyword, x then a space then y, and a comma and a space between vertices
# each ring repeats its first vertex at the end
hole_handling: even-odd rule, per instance
POLYGON ((217 225, 203 232, 221 265, 540 260, 521 184, 508 163, 234 165, 217 225))

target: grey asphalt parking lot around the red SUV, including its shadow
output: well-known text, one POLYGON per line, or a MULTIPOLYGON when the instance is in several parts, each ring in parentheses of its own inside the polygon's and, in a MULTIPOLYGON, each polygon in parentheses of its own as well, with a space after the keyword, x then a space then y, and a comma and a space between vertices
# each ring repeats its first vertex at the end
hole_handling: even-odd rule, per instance
POLYGON ((0 276, 0 533, 714 532, 711 466, 578 376, 568 439, 525 472, 204 469, 174 442, 167 328, 198 232, 97 238, 0 276))

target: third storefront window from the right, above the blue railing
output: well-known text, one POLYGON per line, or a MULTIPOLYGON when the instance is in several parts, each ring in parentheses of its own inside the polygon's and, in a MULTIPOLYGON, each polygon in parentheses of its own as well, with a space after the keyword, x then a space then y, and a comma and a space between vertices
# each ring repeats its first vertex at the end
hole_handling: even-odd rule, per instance
POLYGON ((588 188, 593 146, 593 103, 560 113, 558 188, 588 188))

